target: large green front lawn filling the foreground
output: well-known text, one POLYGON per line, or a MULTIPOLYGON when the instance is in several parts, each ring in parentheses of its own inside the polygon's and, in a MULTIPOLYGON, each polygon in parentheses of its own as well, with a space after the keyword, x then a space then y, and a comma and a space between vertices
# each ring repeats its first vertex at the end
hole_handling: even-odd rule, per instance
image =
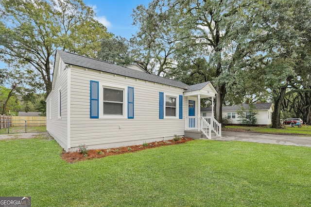
POLYGON ((0 141, 1 196, 33 207, 310 206, 311 148, 195 140, 69 164, 54 140, 0 141))

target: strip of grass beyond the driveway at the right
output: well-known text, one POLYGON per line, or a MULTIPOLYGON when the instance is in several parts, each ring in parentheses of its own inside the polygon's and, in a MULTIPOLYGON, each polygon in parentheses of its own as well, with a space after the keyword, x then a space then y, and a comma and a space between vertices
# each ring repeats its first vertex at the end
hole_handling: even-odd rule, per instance
POLYGON ((311 126, 308 128, 305 127, 298 128, 297 126, 295 127, 285 126, 283 128, 247 127, 247 126, 225 126, 225 127, 244 129, 250 132, 259 132, 259 133, 294 134, 294 135, 311 136, 311 126))

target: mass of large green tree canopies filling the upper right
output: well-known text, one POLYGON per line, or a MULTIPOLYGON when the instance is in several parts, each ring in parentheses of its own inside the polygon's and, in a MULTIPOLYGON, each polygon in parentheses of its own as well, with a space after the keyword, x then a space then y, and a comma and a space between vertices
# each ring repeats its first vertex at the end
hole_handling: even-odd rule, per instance
POLYGON ((218 121, 223 104, 264 102, 269 94, 279 127, 290 88, 304 82, 299 95, 310 97, 310 8, 310 0, 153 0, 137 7, 134 23, 148 63, 156 54, 173 63, 157 65, 169 78, 213 82, 218 121))

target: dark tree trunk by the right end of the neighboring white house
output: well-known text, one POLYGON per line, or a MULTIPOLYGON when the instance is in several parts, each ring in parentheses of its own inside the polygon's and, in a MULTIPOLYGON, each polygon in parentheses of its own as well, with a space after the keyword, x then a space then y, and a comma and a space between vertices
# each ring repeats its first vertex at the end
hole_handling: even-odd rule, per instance
POLYGON ((280 128, 280 114, 281 114, 281 107, 282 101, 285 97, 286 87, 280 88, 279 92, 274 90, 275 97, 274 99, 274 112, 272 114, 272 128, 280 128), (279 96, 276 96, 279 93, 279 96))

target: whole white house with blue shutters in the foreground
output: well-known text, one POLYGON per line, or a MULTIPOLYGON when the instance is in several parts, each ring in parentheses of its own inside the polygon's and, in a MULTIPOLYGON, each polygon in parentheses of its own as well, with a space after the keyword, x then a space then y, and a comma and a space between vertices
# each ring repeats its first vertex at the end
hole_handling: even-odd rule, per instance
POLYGON ((185 130, 210 139, 211 130, 221 135, 221 126, 200 117, 200 100, 213 102, 216 94, 209 81, 189 86, 137 66, 57 50, 47 130, 66 151, 82 144, 96 149, 169 140, 185 130))

